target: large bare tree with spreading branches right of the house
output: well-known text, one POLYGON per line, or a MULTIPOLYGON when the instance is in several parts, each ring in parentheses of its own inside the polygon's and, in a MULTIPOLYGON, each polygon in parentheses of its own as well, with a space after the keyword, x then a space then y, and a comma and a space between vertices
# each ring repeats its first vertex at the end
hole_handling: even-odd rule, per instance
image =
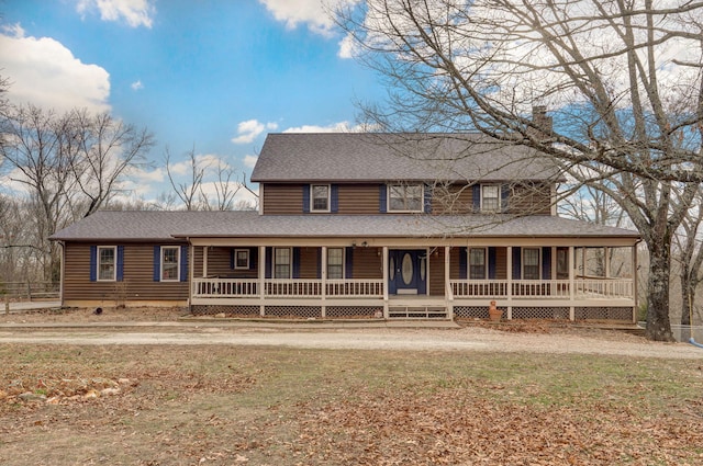
POLYGON ((368 123, 480 130, 594 189, 612 181, 604 192, 649 249, 647 337, 672 339, 671 238, 703 180, 703 2, 367 0, 336 18, 390 89, 364 107, 368 123))

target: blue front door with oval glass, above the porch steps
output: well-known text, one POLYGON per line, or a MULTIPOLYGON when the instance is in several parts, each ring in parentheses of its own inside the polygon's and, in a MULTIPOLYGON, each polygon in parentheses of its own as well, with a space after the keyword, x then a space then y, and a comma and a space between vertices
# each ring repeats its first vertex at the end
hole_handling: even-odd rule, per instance
POLYGON ((416 249, 388 251, 388 289, 391 294, 424 295, 427 289, 427 252, 416 249))

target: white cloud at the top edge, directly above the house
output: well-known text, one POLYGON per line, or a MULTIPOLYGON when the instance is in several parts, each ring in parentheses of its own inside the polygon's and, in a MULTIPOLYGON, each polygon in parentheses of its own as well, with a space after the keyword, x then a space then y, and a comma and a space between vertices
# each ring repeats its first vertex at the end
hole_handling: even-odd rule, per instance
POLYGON ((335 22, 330 12, 342 5, 358 3, 359 0, 259 0, 259 2, 274 14, 277 21, 286 23, 289 30, 305 23, 313 33, 331 36, 335 22))

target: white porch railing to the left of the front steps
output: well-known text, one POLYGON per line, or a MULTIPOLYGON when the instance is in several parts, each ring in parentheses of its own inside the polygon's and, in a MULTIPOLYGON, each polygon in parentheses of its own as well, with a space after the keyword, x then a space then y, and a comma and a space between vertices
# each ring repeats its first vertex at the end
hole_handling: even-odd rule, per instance
MULTIPOLYGON (((194 279, 196 298, 252 298, 261 297, 261 282, 257 279, 194 279)), ((279 280, 264 281, 264 296, 268 297, 322 297, 322 280, 279 280)), ((383 281, 378 280, 328 280, 325 286, 328 297, 382 297, 383 281)))

